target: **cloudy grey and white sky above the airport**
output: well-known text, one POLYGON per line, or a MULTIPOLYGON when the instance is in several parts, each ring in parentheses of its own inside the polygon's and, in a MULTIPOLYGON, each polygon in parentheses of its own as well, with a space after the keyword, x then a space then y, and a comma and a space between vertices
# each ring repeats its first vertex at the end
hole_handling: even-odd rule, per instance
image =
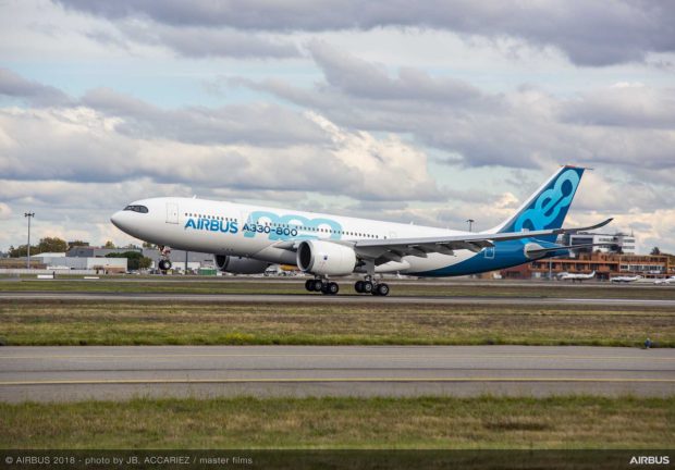
POLYGON ((675 2, 0 0, 0 250, 156 196, 487 230, 561 164, 675 252, 675 2))

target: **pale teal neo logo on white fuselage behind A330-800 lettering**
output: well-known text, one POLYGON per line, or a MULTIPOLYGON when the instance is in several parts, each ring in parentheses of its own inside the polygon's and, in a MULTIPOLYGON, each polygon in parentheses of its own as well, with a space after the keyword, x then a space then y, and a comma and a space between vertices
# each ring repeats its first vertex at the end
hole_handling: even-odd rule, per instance
POLYGON ((308 219, 296 214, 278 215, 269 211, 255 211, 248 215, 243 232, 247 238, 267 234, 271 240, 314 239, 319 238, 321 233, 329 233, 329 239, 340 239, 342 225, 324 218, 308 219))

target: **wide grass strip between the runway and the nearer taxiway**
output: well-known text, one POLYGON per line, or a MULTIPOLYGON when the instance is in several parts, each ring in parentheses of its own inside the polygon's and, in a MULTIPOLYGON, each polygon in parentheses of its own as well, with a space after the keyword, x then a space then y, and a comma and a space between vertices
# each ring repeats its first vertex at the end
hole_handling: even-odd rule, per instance
POLYGON ((675 309, 629 306, 0 300, 7 345, 675 347, 675 309))

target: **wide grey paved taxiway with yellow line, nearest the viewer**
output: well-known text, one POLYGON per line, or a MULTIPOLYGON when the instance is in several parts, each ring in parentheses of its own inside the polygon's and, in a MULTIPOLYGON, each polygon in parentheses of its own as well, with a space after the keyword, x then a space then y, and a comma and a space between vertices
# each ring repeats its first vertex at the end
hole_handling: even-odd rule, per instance
POLYGON ((675 394, 675 350, 537 346, 0 348, 0 400, 675 394))

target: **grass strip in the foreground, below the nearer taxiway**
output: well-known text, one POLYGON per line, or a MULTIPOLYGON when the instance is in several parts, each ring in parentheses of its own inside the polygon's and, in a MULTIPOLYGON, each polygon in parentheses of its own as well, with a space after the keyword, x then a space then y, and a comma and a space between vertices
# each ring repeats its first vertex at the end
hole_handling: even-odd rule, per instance
POLYGON ((0 404, 1 448, 674 448, 675 397, 0 404))

